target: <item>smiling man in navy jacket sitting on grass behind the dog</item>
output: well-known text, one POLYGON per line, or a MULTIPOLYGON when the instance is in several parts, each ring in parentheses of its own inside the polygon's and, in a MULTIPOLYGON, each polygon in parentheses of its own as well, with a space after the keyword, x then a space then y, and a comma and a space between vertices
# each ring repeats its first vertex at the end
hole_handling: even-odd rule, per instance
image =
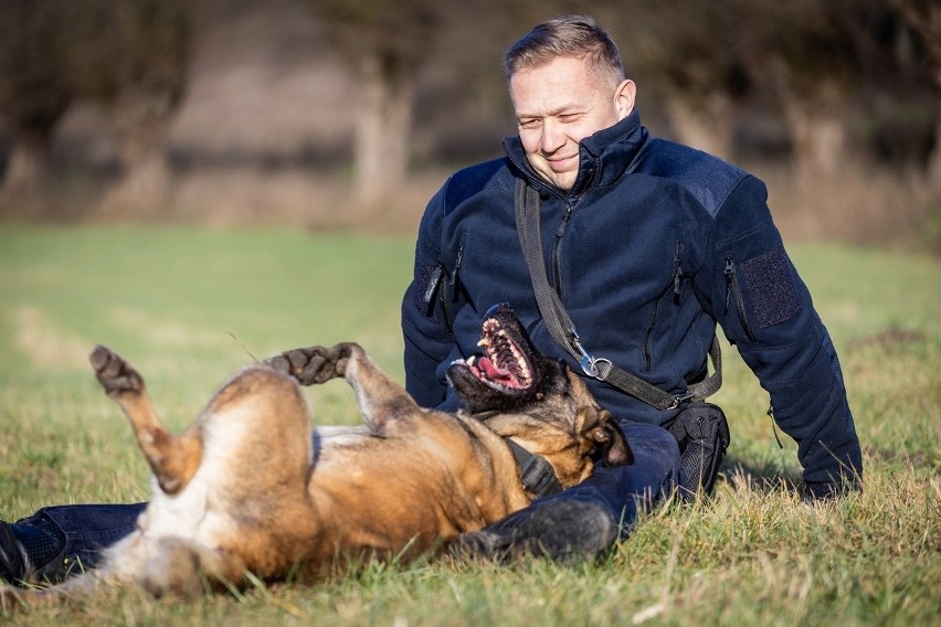
MULTIPOLYGON (((508 301, 541 351, 581 369, 575 347, 586 372, 613 364, 675 402, 657 407, 614 379, 589 376, 620 417, 635 463, 600 467, 585 483, 463 535, 457 549, 488 557, 593 556, 630 533, 638 509, 688 482, 690 450, 715 471, 727 444, 721 414, 709 415, 713 428, 694 434, 683 458, 663 427, 690 415, 687 400, 706 378, 717 323, 797 442, 805 498, 858 487, 861 456, 836 353, 771 221, 764 185, 652 138, 614 42, 589 18, 537 25, 507 51, 505 65, 519 136, 505 141, 505 158, 451 177, 422 220, 402 304, 409 392, 422 405, 455 408, 445 370, 476 352, 485 311, 508 301), (515 217, 518 181, 526 198, 538 199, 530 201, 541 235, 533 267, 544 265, 578 329, 577 342, 563 329, 568 348, 537 301, 515 217)), ((526 227, 524 234, 532 241, 526 227)), ((0 523, 0 576, 59 578, 76 556, 93 566, 142 507, 45 508, 0 523)))

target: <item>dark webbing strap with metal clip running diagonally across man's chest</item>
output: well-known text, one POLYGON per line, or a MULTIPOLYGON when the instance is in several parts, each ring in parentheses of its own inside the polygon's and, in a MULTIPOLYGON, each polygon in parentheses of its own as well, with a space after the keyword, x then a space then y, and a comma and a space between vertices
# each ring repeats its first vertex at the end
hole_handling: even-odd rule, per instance
POLYGON ((539 225, 539 192, 525 180, 516 181, 516 230, 529 277, 536 294, 536 304, 546 327, 556 342, 575 358, 589 376, 605 381, 635 398, 658 410, 674 410, 684 401, 701 401, 715 394, 722 385, 722 354, 719 338, 712 338, 709 358, 713 372, 699 383, 692 383, 685 394, 669 394, 646 381, 617 368, 611 360, 595 358, 582 346, 575 325, 562 306, 559 294, 549 286, 546 263, 542 258, 542 232, 539 225))

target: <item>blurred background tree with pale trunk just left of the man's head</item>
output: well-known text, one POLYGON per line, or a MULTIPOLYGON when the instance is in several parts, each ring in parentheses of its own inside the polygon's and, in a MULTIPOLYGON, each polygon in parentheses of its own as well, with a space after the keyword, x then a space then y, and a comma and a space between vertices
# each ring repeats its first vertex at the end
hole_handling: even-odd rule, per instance
MULTIPOLYGON (((412 128, 416 91, 424 86, 425 71, 431 67, 446 75, 450 86, 438 85, 443 92, 437 95, 444 97, 438 102, 420 103, 433 105, 422 107, 423 124, 429 116, 453 120, 455 108, 463 113, 476 108, 490 116, 479 120, 484 126, 506 128, 494 120, 507 110, 494 103, 508 102, 499 64, 506 46, 519 36, 521 24, 528 28, 547 17, 588 7, 594 13, 605 12, 617 4, 616 0, 304 1, 323 22, 359 84, 353 187, 356 199, 367 205, 389 198, 408 177, 410 147, 416 144, 412 128)), ((457 151, 474 142, 466 129, 444 126, 448 137, 463 131, 461 140, 452 144, 457 151)))

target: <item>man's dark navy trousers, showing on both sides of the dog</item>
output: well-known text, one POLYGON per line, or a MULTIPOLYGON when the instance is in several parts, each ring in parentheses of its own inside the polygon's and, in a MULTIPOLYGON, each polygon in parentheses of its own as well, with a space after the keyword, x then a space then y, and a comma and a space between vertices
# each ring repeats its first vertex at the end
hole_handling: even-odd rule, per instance
MULTIPOLYGON (((620 468, 599 466, 588 481, 553 497, 539 499, 530 508, 554 499, 601 502, 621 524, 622 540, 626 539, 637 512, 649 510, 672 493, 681 470, 679 448, 669 432, 630 421, 622 421, 621 428, 634 453, 634 464, 620 468)), ((71 563, 78 559, 83 567, 91 568, 97 563, 103 549, 134 531, 137 517, 146 507, 147 503, 56 506, 43 508, 33 517, 49 517, 65 536, 66 560, 71 563)), ((527 510, 511 514, 506 522, 511 524, 520 516, 526 516, 527 510)), ((272 512, 272 516, 277 516, 277 512, 272 512)), ((29 523, 29 520, 20 522, 29 523)))

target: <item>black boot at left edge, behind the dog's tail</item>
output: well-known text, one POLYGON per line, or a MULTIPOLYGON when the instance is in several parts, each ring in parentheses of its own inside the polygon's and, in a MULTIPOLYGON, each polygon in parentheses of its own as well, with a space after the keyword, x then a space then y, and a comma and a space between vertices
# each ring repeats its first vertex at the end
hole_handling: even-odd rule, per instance
POLYGON ((0 521, 0 578, 7 583, 56 583, 73 565, 65 559, 65 534, 49 517, 0 521))

